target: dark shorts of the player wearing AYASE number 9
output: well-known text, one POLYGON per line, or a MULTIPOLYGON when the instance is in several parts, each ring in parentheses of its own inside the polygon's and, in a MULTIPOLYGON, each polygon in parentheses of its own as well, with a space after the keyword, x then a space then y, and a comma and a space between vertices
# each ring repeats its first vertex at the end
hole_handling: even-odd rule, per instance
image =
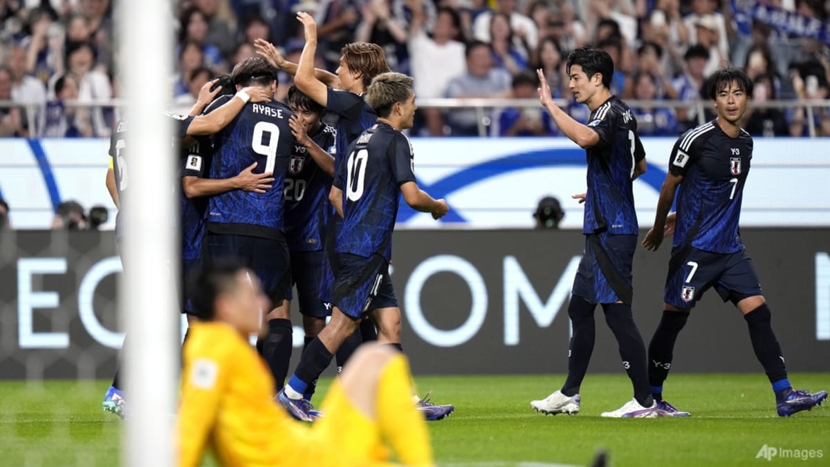
POLYGON ((271 306, 279 306, 290 295, 291 260, 285 241, 208 232, 205 243, 207 255, 212 260, 233 257, 251 268, 260 280, 262 290, 271 299, 271 306))

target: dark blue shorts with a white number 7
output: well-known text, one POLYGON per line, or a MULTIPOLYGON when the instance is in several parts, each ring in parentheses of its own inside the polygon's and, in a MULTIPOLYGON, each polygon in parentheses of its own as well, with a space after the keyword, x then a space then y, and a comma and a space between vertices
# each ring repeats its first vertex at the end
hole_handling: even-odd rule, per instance
POLYGON ((762 295, 758 274, 745 250, 737 253, 710 253, 687 247, 671 251, 666 277, 666 304, 677 308, 694 308, 710 287, 724 301, 762 295))

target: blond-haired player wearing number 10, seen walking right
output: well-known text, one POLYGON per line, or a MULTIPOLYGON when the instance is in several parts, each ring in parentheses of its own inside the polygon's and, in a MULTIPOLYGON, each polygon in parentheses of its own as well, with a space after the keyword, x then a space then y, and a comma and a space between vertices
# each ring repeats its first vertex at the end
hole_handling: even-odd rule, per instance
MULTIPOLYGON (((388 274, 400 195, 409 206, 431 212, 435 219, 449 209, 447 202, 432 199, 417 186, 412 147, 401 133, 413 124, 412 78, 392 72, 378 75, 369 85, 366 101, 378 114, 378 123, 349 146, 344 154, 348 160, 340 166, 329 195, 343 217, 336 240, 331 321, 309 343, 291 380, 277 394, 277 400, 299 420, 313 420, 302 403, 303 393, 364 315, 378 327, 378 342, 400 345, 401 311, 388 274)), ((437 417, 449 415, 452 406, 441 412, 437 417)))

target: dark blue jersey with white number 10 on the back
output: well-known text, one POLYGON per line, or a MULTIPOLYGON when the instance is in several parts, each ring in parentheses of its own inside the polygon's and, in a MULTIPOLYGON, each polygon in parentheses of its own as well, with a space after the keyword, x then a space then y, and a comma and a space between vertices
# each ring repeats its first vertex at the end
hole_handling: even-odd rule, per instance
POLYGON ((344 214, 337 253, 391 259, 404 182, 415 182, 409 140, 386 123, 374 124, 349 147, 347 161, 334 178, 334 186, 343 190, 344 214))

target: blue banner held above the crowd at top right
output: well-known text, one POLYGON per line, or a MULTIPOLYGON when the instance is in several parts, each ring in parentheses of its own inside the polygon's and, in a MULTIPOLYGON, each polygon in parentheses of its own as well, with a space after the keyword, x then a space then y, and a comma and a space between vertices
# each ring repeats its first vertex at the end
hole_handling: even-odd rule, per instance
POLYGON ((754 20, 764 22, 778 32, 817 39, 830 46, 830 22, 823 23, 818 18, 805 17, 756 0, 731 0, 731 6, 738 31, 743 34, 751 32, 749 22, 754 20))

